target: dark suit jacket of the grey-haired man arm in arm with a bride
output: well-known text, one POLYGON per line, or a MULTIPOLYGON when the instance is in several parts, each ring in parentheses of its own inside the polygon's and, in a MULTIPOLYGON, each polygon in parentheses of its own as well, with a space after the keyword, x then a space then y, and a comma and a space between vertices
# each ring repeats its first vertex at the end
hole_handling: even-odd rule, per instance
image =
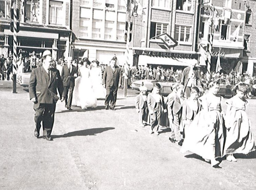
POLYGON ((69 67, 64 65, 61 70, 61 78, 63 80, 63 86, 75 86, 75 76, 77 74, 76 67, 72 65, 71 72, 69 71, 69 67))

